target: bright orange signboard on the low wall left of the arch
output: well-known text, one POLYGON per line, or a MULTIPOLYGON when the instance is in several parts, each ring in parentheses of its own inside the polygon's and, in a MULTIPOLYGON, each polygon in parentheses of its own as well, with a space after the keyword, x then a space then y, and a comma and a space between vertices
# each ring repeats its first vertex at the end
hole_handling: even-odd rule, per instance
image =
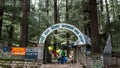
POLYGON ((26 48, 24 47, 12 47, 12 54, 13 55, 25 55, 26 48))

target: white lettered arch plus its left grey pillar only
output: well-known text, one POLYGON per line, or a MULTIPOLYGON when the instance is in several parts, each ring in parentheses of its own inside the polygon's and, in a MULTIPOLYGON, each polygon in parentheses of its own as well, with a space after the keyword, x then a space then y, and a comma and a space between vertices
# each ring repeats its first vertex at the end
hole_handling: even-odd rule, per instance
POLYGON ((46 40, 47 36, 51 32, 53 32, 55 30, 58 30, 58 29, 67 29, 67 30, 70 30, 71 32, 73 32, 77 36, 77 38, 78 38, 78 45, 85 45, 86 44, 85 38, 84 38, 83 34, 75 26, 70 25, 70 24, 66 24, 66 23, 54 24, 54 25, 51 25, 50 27, 48 27, 42 33, 42 35, 40 36, 39 46, 38 46, 38 48, 39 48, 38 49, 38 60, 43 61, 43 49, 44 49, 44 43, 45 43, 45 40, 46 40))

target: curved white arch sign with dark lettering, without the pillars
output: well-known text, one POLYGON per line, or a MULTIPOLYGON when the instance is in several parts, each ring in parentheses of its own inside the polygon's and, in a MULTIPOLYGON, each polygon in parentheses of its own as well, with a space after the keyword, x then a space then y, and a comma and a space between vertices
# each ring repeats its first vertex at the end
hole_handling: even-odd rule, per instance
POLYGON ((68 29, 70 31, 72 31, 77 37, 78 37, 78 41, 79 43, 78 44, 82 44, 84 45, 85 44, 85 39, 84 39, 84 36, 83 34, 79 31, 78 28, 76 28, 75 26, 73 25, 70 25, 70 24, 65 24, 65 23, 59 23, 59 24, 55 24, 55 25, 52 25, 50 26, 49 28, 47 28, 41 35, 40 37, 40 40, 39 40, 39 43, 41 44, 44 44, 47 36, 55 31, 55 30, 58 30, 58 29, 68 29))

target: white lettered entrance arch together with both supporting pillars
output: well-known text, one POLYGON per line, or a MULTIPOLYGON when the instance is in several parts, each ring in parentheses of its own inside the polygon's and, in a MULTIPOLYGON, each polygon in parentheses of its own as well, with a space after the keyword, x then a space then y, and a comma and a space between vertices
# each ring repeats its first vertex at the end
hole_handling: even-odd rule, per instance
POLYGON ((73 26, 71 24, 66 24, 66 23, 54 24, 54 25, 48 27, 42 33, 42 35, 40 36, 40 39, 39 39, 38 59, 42 62, 43 62, 43 60, 47 61, 46 58, 43 59, 44 58, 43 54, 47 55, 46 54, 47 50, 44 50, 44 49, 47 49, 47 48, 44 47, 45 40, 50 33, 52 33, 55 30, 58 30, 58 29, 67 29, 67 30, 73 32, 77 36, 78 40, 76 42, 77 45, 76 45, 76 48, 74 50, 74 55, 75 55, 74 60, 78 60, 78 53, 79 53, 80 46, 85 45, 86 41, 85 41, 84 35, 81 33, 81 31, 78 28, 76 28, 75 26, 73 26))

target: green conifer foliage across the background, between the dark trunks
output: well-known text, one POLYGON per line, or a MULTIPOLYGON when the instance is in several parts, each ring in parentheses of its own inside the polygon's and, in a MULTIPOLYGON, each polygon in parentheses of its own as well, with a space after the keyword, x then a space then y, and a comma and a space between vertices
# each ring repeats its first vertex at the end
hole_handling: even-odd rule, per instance
MULTIPOLYGON (((36 0, 34 0, 36 1, 36 0)), ((99 40, 100 45, 104 46, 107 40, 108 33, 112 33, 112 45, 114 47, 113 51, 119 51, 119 32, 120 32, 120 4, 116 0, 109 0, 109 10, 110 10, 110 20, 112 23, 107 23, 106 10, 100 9, 100 3, 98 2, 98 22, 99 22, 99 40)), ((20 41, 20 23, 22 18, 22 0, 16 1, 16 6, 13 6, 12 0, 6 0, 5 5, 0 4, 0 8, 4 8, 4 16, 0 17, 3 19, 2 27, 2 43, 8 43, 8 31, 7 26, 14 26, 14 36, 12 39, 13 44, 19 45, 20 41), (13 12, 15 17, 12 17, 13 12)), ((69 20, 66 21, 66 0, 58 0, 58 22, 67 22, 76 26, 81 31, 84 31, 84 25, 89 23, 89 9, 88 0, 69 0, 68 1, 68 15, 69 20), (87 8, 86 8, 87 7, 87 8)), ((102 5, 105 8, 105 4, 102 5)), ((30 2, 30 13, 29 13, 29 28, 28 28, 28 41, 38 42, 42 32, 54 23, 54 1, 49 0, 49 7, 46 7, 46 0, 39 0, 39 3, 30 2), (49 11, 47 14, 47 10, 49 11)), ((58 30, 59 34, 54 35, 51 33, 49 35, 50 42, 53 41, 53 37, 57 39, 58 42, 64 42, 66 40, 76 41, 76 36, 68 30, 58 30), (70 34, 70 38, 66 38, 66 32, 70 34)), ((29 44, 32 45, 32 44, 29 44)))

